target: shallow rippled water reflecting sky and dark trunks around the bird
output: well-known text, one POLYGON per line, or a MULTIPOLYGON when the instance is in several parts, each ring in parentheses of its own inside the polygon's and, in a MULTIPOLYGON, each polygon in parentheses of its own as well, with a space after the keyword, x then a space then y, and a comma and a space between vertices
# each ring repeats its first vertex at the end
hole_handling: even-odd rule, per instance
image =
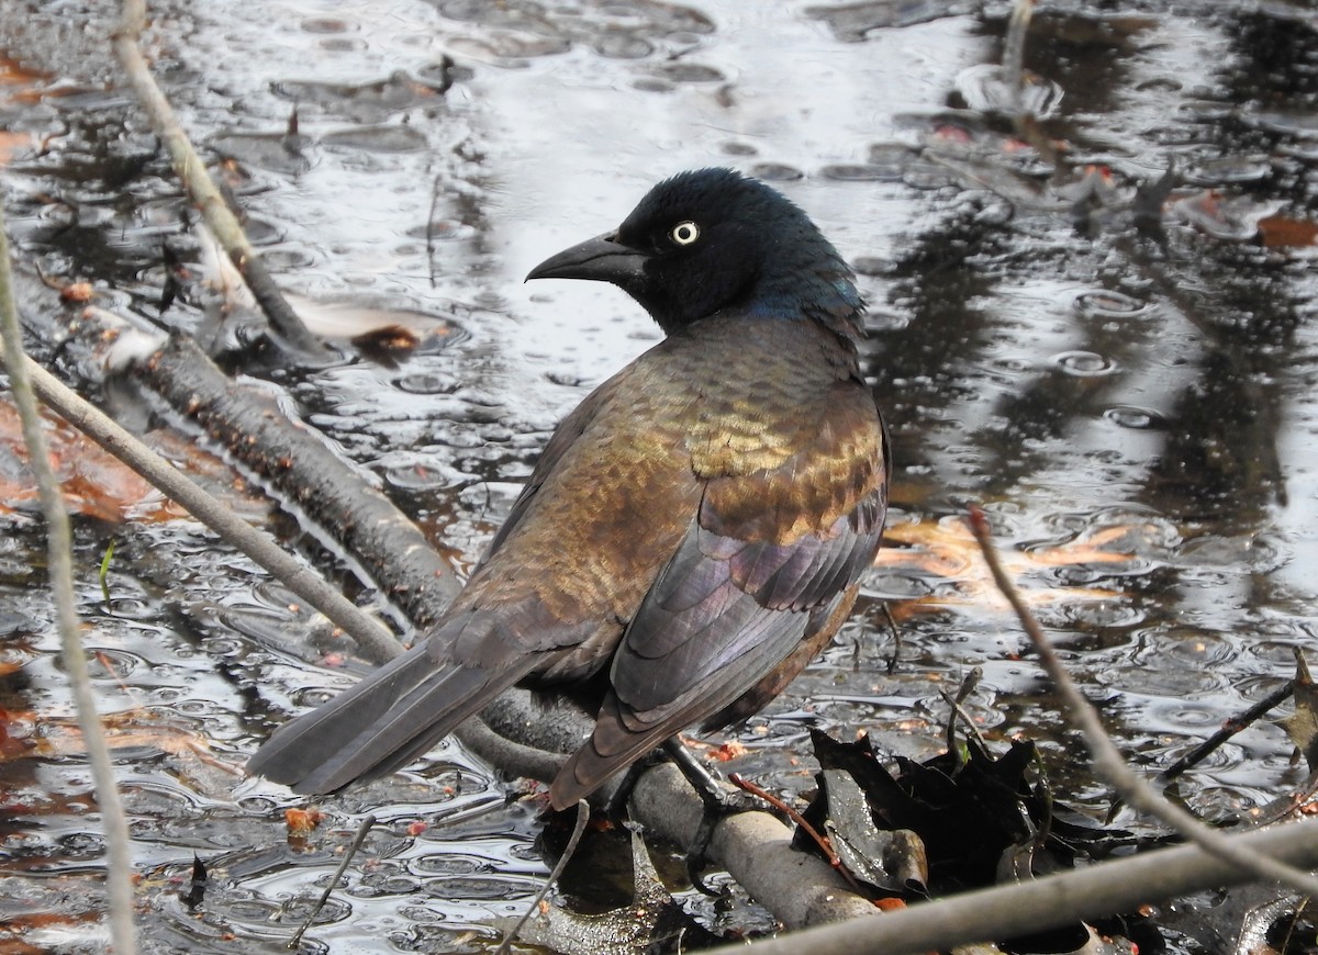
MULTIPOLYGON (((969 503, 986 507, 1072 672, 1151 772, 1280 685, 1293 648, 1314 644, 1314 246, 1259 238, 1260 219, 1311 221, 1315 207, 1318 37, 1302 5, 1043 7, 1025 63, 1052 112, 1028 144, 978 112, 996 95, 985 67, 1000 54, 1004 5, 153 11, 157 74, 207 154, 236 161, 235 192, 279 282, 444 329, 397 368, 253 373, 377 473, 460 565, 558 418, 658 339, 619 292, 522 285, 531 266, 617 224, 656 179, 710 163, 775 180, 857 266, 871 303, 866 371, 894 436, 888 556, 837 644, 753 721, 739 772, 808 786, 808 767, 786 755, 812 723, 932 753, 938 690, 981 667, 966 706, 982 728, 1037 740, 1060 794, 1106 809, 966 543, 969 503), (1141 233, 1133 190, 1169 165, 1161 233, 1141 233), (891 674, 883 599, 902 626, 891 674)), ((26 134, 0 183, 21 261, 91 279, 154 320, 162 244, 183 262, 202 254, 145 120, 112 83, 105 17, 96 4, 0 0, 0 57, 22 67, 4 75, 26 76, 0 87, 0 126, 26 134)), ((183 304, 163 321, 203 317, 183 304)), ((21 663, 0 706, 11 738, 40 744, 0 764, 0 896, 13 900, 0 921, 18 919, 37 948, 76 951, 100 938, 79 901, 98 892, 100 842, 62 722, 29 514, 0 515, 0 632, 21 663), (33 912, 59 917, 37 926, 33 912)), ((455 743, 416 773, 327 801, 332 836, 286 844, 278 810, 295 801, 225 767, 344 681, 299 656, 319 653, 302 649, 289 597, 186 520, 84 516, 78 548, 88 645, 105 655, 96 688, 119 714, 148 876, 149 950, 286 938, 290 921, 272 914, 319 893, 332 847, 366 810, 381 819, 369 861, 349 871, 312 947, 481 950, 492 917, 526 904, 544 873, 534 811, 505 806, 507 786, 455 743), (95 568, 109 539, 107 607, 95 568), (220 887, 202 915, 174 894, 194 852, 220 887)), ((1256 724, 1180 792, 1213 814, 1267 801, 1304 776, 1290 751, 1278 727, 1256 724)))

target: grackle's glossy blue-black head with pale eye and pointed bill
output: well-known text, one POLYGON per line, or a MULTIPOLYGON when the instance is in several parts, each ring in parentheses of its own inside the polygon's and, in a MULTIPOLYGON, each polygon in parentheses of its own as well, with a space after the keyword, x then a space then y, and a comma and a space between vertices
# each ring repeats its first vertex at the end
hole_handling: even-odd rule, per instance
POLYGON ((612 282, 668 335, 738 310, 861 336, 861 296, 833 245, 780 192, 729 169, 666 179, 617 229, 546 259, 532 278, 612 282))

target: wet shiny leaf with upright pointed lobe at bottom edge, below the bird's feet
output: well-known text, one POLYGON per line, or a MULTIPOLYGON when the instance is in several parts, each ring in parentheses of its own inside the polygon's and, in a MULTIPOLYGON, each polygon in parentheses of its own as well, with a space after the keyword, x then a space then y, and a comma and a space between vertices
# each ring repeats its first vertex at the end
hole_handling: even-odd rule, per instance
POLYGON ((567 955, 631 955, 689 951, 720 939, 683 912, 659 881, 639 832, 631 834, 634 900, 601 915, 543 906, 522 927, 519 939, 567 955))

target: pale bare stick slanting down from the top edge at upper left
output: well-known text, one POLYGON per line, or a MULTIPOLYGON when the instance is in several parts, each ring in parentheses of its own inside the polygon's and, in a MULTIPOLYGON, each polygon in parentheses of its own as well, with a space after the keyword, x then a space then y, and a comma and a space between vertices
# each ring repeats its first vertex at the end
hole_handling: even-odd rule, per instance
POLYGON ((265 267, 265 261, 252 248, 237 216, 224 202, 224 195, 206 171, 206 163, 179 125, 173 107, 152 78, 140 45, 145 28, 146 0, 124 0, 123 16, 111 34, 111 45, 156 134, 169 150, 174 174, 192 198, 207 228, 243 274, 270 324, 294 348, 312 356, 326 354, 324 344, 307 331, 306 324, 293 311, 293 306, 279 292, 270 271, 265 267))

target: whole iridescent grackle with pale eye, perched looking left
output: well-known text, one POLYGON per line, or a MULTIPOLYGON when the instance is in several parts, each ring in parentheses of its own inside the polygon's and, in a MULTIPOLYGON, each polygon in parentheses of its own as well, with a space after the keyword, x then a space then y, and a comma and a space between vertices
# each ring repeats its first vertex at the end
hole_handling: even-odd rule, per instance
POLYGON ((667 337, 563 420, 444 619, 249 771, 298 793, 374 778, 521 682, 597 711, 550 788, 561 809, 693 723, 754 714, 850 613, 887 445, 861 296, 809 217, 731 170, 683 173, 527 278, 612 282, 667 337))

